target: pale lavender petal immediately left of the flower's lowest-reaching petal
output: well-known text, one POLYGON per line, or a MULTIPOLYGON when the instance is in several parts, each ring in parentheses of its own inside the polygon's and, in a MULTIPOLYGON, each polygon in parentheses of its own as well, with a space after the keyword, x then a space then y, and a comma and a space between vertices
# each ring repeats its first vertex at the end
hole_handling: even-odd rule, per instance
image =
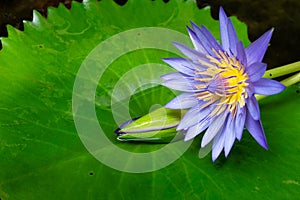
POLYGON ((209 128, 202 138, 201 147, 206 146, 219 133, 219 131, 222 131, 226 116, 227 113, 223 112, 212 120, 212 123, 209 125, 209 128))

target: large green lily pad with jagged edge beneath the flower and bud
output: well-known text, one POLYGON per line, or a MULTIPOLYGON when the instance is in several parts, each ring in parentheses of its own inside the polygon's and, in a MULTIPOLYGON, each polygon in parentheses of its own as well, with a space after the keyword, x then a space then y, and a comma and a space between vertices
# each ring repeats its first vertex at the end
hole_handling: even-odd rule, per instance
MULTIPOLYGON (((219 38, 218 22, 210 17, 210 10, 198 10, 194 1, 171 0, 165 4, 130 0, 122 7, 105 0, 73 2, 71 10, 62 5, 50 8, 47 19, 34 12, 33 21, 24 23, 24 32, 8 26, 8 38, 1 39, 0 52, 1 200, 294 199, 299 196, 298 86, 260 103, 268 151, 257 145, 247 132, 240 143, 235 143, 229 157, 221 155, 216 163, 209 156, 198 158, 201 136, 192 143, 179 141, 168 145, 116 140, 113 131, 121 122, 143 116, 153 105, 164 105, 176 95, 159 86, 158 80, 160 75, 172 71, 161 58, 179 56, 179 52, 171 50, 171 41, 184 39, 180 34, 178 38, 157 38, 156 42, 169 45, 166 48, 170 51, 144 48, 119 55, 99 81, 92 78, 94 69, 105 58, 95 60, 95 65, 91 65, 95 68, 86 71, 91 79, 81 78, 97 84, 96 94, 86 102, 95 100, 91 110, 96 110, 107 138, 89 137, 94 131, 89 125, 98 123, 84 118, 90 110, 81 113, 88 128, 80 131, 86 137, 79 135, 74 125, 78 113, 72 109, 73 86, 79 70, 85 69, 81 64, 91 51, 111 36, 133 28, 168 28, 187 35, 185 26, 190 20, 205 24, 219 38), (148 84, 136 88, 138 83, 148 84), (122 90, 114 92, 116 86, 122 90), (121 111, 126 107, 129 108, 124 115, 121 111), (84 140, 89 140, 94 149, 87 149, 84 140), (114 145, 101 146, 104 142, 114 145), (143 162, 137 159, 146 155, 149 159, 143 162), (104 158, 100 162, 96 156, 104 158), (127 171, 111 168, 107 161, 122 165, 127 171), (166 161, 170 165, 161 165, 166 161), (134 167, 148 167, 148 171, 128 173, 134 167)), ((238 35, 247 40, 245 25, 237 20, 234 25, 238 35)), ((141 33, 132 40, 109 43, 107 51, 95 51, 95 55, 100 58, 127 48, 128 43, 147 34, 141 33)), ((88 85, 80 86, 85 93, 78 98, 90 97, 88 85)))

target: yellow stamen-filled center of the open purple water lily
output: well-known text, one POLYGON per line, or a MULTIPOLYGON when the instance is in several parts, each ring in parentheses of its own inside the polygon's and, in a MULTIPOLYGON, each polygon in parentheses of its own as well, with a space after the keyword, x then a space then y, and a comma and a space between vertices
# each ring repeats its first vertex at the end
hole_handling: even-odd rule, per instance
POLYGON ((195 86, 200 90, 196 93, 196 97, 207 102, 202 106, 203 108, 211 104, 217 105, 211 115, 218 115, 225 109, 235 115, 237 106, 245 106, 245 99, 248 98, 245 88, 248 86, 249 77, 236 57, 214 49, 213 52, 217 58, 208 55, 207 61, 199 60, 200 64, 207 69, 195 71, 199 76, 195 80, 200 82, 195 86))

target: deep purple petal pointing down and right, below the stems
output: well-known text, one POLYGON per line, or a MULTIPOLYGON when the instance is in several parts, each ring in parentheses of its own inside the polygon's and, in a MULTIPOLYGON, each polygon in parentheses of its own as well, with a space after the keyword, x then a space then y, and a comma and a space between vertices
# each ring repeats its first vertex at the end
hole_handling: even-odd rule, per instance
POLYGON ((260 146, 268 149, 266 136, 264 134, 264 130, 260 120, 254 120, 250 114, 247 114, 246 128, 248 129, 252 137, 257 141, 257 143, 260 144, 260 146))

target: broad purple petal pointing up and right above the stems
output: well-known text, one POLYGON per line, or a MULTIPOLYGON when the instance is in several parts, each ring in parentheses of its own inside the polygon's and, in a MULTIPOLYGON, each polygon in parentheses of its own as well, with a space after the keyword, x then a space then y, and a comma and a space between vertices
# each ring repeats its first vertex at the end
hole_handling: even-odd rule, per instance
POLYGON ((274 29, 267 31, 246 48, 248 66, 252 63, 262 61, 272 37, 273 30, 274 29))

